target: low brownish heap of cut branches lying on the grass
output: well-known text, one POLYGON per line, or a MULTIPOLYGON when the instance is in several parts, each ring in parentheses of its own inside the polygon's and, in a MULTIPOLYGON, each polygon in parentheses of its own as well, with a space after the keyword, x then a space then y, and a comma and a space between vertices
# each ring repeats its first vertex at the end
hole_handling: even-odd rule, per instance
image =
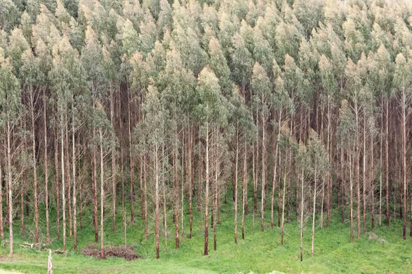
MULTIPOLYGON (((93 256, 94 258, 102 259, 102 253, 100 251, 100 247, 96 247, 95 245, 87 245, 83 249, 84 256, 93 256)), ((104 247, 103 249, 103 259, 105 258, 125 258, 128 261, 133 261, 137 259, 143 259, 143 256, 139 255, 133 247, 115 247, 115 246, 108 246, 104 247)))

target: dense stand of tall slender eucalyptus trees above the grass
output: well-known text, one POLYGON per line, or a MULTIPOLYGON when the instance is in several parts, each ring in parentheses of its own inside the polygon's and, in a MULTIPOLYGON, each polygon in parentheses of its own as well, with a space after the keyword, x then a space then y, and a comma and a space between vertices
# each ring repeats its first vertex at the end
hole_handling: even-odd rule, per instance
POLYGON ((300 260, 332 214, 406 240, 411 45, 396 0, 0 0, 1 238, 93 225, 103 257, 142 223, 159 258, 198 211, 207 256, 231 203, 235 244, 296 220, 300 260))

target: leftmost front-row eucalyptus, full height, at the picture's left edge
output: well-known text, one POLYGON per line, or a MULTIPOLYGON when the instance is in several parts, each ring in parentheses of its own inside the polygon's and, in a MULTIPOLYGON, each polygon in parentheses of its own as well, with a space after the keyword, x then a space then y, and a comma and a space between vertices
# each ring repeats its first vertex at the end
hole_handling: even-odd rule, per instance
POLYGON ((9 241, 10 256, 14 254, 13 238, 13 184, 19 179, 21 171, 14 167, 14 160, 19 152, 19 147, 12 142, 18 138, 16 127, 21 119, 21 98, 19 80, 12 73, 10 59, 5 58, 4 49, 0 48, 0 125, 5 137, 5 167, 6 182, 8 184, 8 222, 9 222, 9 241))

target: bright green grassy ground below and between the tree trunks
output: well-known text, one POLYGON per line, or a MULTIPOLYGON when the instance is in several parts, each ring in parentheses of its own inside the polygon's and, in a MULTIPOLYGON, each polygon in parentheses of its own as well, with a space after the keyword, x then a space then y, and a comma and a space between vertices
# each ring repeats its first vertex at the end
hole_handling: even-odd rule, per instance
MULTIPOLYGON (((249 205, 253 206, 253 203, 249 205)), ((194 206, 196 206, 194 204, 194 206)), ((122 245, 124 231, 122 227, 121 209, 117 216, 117 232, 112 229, 112 219, 108 212, 104 232, 105 245, 122 245)), ((185 235, 188 234, 188 210, 185 210, 185 235)), ((222 224, 217 227, 217 251, 214 251, 214 232, 209 229, 209 256, 203 256, 204 234, 201 229, 201 214, 194 208, 193 237, 183 238, 180 249, 174 249, 174 226, 168 224, 168 251, 161 238, 161 258, 155 258, 155 231, 152 214, 149 218, 148 240, 144 240, 144 223, 135 220, 135 225, 128 225, 127 243, 135 247, 144 259, 126 261, 122 258, 98 260, 82 255, 82 249, 94 240, 91 216, 84 216, 84 228, 78 232, 79 251, 73 250, 73 238, 67 238, 67 255, 53 255, 54 273, 412 273, 412 238, 402 240, 401 220, 391 226, 378 227, 376 216, 376 232, 367 232, 356 240, 356 220, 354 220, 354 243, 350 243, 350 223, 346 219, 340 222, 340 212, 334 210, 330 228, 320 229, 317 220, 315 233, 314 258, 310 258, 311 221, 308 219, 304 232, 304 260, 299 261, 299 225, 295 221, 285 225, 284 245, 281 245, 281 230, 275 226, 270 228, 270 209, 266 214, 265 231, 260 232, 260 219, 255 217, 253 227, 252 214, 246 216, 245 239, 241 234, 241 215, 239 216, 238 245, 233 240, 233 203, 222 205, 222 224), (278 272, 277 272, 278 271, 278 272)), ((136 217, 137 216, 137 211, 136 217)), ((42 212, 44 216, 44 212, 42 212)), ((168 212, 172 219, 172 212, 168 212)), ((291 216, 292 217, 292 216, 291 216)), ((294 217, 294 216, 293 216, 294 217)), ((275 219, 277 222, 277 219, 275 219)), ((18 221, 14 225, 15 256, 8 257, 8 250, 0 245, 0 273, 46 273, 47 251, 23 249, 19 244, 32 242, 34 227, 30 219, 26 219, 25 235, 21 236, 18 221)), ((41 220, 44 222, 44 220, 41 220)), ((179 220, 180 222, 181 220, 179 220)), ((203 222, 202 222, 203 223, 203 222)), ((42 226, 44 224, 42 223, 42 226)), ((179 224, 180 225, 180 224, 179 224)), ((45 227, 45 225, 43 226, 45 227)), ((367 223, 367 231, 370 231, 367 223)), ((42 229, 42 231, 45 229, 42 229)), ((162 230, 162 229, 161 229, 162 230)), ((51 231, 56 237, 56 228, 51 231)), ((163 233, 163 231, 161 231, 163 233)), ((41 241, 45 242, 44 234, 41 241)), ((163 234, 161 234, 163 236, 163 234)), ((5 237, 8 237, 6 233, 5 237)), ((53 238, 52 249, 62 247, 62 239, 53 238)))

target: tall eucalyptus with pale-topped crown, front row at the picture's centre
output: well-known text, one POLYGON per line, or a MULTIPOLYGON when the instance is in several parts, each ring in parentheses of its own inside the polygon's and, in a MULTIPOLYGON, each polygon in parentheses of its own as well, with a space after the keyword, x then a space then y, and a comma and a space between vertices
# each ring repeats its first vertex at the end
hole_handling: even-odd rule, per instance
POLYGON ((213 71, 206 66, 198 76, 198 86, 196 88, 198 97, 198 107, 196 115, 201 121, 201 134, 205 140, 205 163, 206 163, 206 186, 205 186, 205 251, 208 255, 209 241, 209 182, 210 182, 210 163, 209 163, 209 141, 212 129, 227 119, 225 107, 222 105, 222 94, 218 83, 218 78, 213 71))

